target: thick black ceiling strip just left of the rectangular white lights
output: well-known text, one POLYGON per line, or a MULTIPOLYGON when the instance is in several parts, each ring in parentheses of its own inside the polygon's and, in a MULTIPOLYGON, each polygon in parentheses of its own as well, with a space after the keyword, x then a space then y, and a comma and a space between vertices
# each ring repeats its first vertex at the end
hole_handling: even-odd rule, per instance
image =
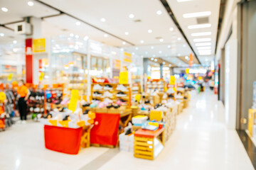
POLYGON ((193 50, 193 47, 191 46, 191 44, 188 42, 188 38, 186 38, 185 33, 183 32, 181 26, 179 25, 176 17, 174 16, 173 11, 171 11, 171 7, 169 6, 168 2, 166 0, 159 0, 161 1, 161 4, 163 4, 164 8, 166 8, 166 11, 169 13, 169 16, 171 17, 171 19, 174 21, 176 27, 178 28, 178 30, 181 32, 181 35, 183 36, 183 38, 186 40, 186 42, 188 43, 188 46, 191 47, 191 50, 193 51, 196 60, 198 60, 199 64, 201 64, 200 60, 198 59, 198 56, 196 55, 196 52, 193 50))

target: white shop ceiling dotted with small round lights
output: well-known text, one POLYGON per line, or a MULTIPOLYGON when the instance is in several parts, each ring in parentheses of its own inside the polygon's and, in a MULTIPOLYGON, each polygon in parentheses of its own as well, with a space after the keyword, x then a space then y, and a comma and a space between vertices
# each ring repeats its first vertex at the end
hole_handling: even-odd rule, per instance
MULTIPOLYGON (((176 66, 188 66, 188 61, 184 58, 190 55, 192 50, 159 0, 41 0, 44 4, 40 1, 31 1, 34 3, 33 6, 28 6, 28 0, 1 0, 0 8, 6 7, 9 11, 0 10, 0 24, 21 21, 26 16, 35 16, 43 18, 42 36, 71 33, 80 37, 88 36, 92 40, 120 47, 143 57, 161 57, 176 66), (58 15, 58 10, 64 13, 58 15), (156 14, 157 11, 161 11, 161 15, 156 14), (130 14, 133 14, 134 18, 129 18, 130 14), (102 18, 105 18, 105 21, 102 18), (78 22, 79 26, 76 25, 78 22)), ((202 64, 210 65, 215 51, 219 0, 193 0, 182 3, 168 0, 168 3, 196 53, 198 50, 191 33, 212 32, 207 36, 211 38, 211 55, 199 55, 202 64), (211 27, 188 29, 188 26, 196 24, 196 18, 183 18, 183 13, 199 11, 211 11, 211 27)), ((14 24, 5 26, 14 28, 14 24)), ((0 33, 5 34, 4 37, 0 37, 0 46, 14 39, 24 38, 2 27, 0 33)), ((193 61, 194 64, 198 64, 196 57, 193 61)))

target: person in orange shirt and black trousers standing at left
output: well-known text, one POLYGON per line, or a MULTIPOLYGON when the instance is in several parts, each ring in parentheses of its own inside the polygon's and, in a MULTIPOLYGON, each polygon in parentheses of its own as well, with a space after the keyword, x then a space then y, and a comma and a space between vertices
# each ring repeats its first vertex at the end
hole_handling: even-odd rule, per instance
POLYGON ((18 89, 17 89, 17 93, 18 93, 18 111, 20 113, 21 116, 21 123, 26 123, 26 109, 27 109, 27 104, 26 101, 28 100, 28 97, 30 95, 30 91, 28 90, 28 88, 25 86, 25 83, 23 80, 18 81, 18 89))

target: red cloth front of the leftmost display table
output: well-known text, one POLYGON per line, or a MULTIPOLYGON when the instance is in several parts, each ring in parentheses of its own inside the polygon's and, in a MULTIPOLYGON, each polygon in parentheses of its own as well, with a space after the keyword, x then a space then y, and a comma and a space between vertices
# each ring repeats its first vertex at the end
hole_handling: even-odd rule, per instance
POLYGON ((65 154, 78 154, 82 128, 74 129, 45 125, 44 137, 47 149, 65 154))

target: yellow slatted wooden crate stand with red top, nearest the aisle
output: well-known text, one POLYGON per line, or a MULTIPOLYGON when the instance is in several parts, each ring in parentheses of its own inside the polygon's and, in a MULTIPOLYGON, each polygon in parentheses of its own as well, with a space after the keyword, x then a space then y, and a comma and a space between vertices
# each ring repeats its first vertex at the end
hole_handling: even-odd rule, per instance
POLYGON ((164 149, 164 128, 137 130, 134 133, 134 157, 154 160, 164 149))

